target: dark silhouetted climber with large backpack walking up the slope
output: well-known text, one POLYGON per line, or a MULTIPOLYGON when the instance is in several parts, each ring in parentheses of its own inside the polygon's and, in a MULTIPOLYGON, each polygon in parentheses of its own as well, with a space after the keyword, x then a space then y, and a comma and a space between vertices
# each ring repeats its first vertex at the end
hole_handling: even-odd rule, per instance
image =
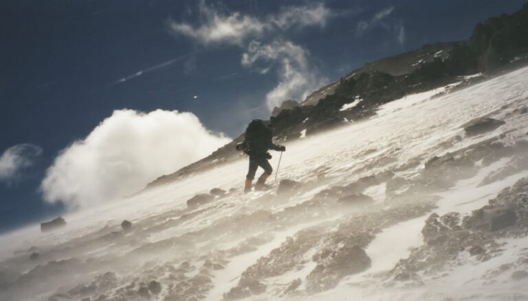
POLYGON ((285 152, 286 147, 274 144, 272 141, 274 127, 271 123, 267 125, 261 119, 254 119, 245 130, 244 140, 236 145, 236 150, 243 151, 250 156, 250 167, 248 175, 245 176, 244 193, 251 191, 251 184, 255 178, 256 169, 262 167, 264 173, 256 181, 255 190, 260 191, 265 188, 267 177, 271 176, 273 168, 270 165, 272 155, 267 151, 270 149, 277 152, 285 152))

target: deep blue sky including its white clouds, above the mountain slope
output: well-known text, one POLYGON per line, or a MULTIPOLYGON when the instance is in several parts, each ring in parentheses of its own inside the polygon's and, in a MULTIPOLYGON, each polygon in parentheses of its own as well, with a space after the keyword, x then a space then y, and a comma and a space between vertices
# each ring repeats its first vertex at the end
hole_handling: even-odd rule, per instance
POLYGON ((2 1, 0 231, 137 191, 286 98, 523 3, 2 1))

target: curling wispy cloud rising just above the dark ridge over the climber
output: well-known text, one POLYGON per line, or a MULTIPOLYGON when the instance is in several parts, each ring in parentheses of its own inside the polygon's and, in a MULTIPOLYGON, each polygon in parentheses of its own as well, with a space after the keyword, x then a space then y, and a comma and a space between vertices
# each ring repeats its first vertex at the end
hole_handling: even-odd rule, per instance
MULTIPOLYGON (((305 99, 308 93, 322 84, 324 80, 321 79, 318 71, 311 67, 308 56, 309 52, 306 49, 289 41, 275 40, 267 45, 253 41, 242 56, 242 64, 245 67, 252 67, 259 61, 270 64, 278 62, 279 82, 266 95, 266 104, 271 110, 287 99, 305 99)), ((263 71, 270 69, 270 67, 259 68, 263 71)))

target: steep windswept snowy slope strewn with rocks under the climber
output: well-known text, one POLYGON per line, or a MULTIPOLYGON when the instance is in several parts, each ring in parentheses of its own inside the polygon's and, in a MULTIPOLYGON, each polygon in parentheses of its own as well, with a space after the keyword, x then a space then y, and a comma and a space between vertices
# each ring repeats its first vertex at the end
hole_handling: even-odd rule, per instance
MULTIPOLYGON (((528 67, 454 93, 448 86, 409 95, 369 120, 287 143, 267 192, 241 193, 241 156, 68 215, 54 232, 6 234, 0 300, 528 298, 519 272, 528 268, 523 215, 509 226, 515 235, 483 232, 476 255, 463 242, 443 250, 422 232, 432 213, 469 216, 528 177, 527 78, 528 67), (466 134, 463 125, 478 117, 505 124, 466 134), (433 156, 438 163, 425 169, 433 156), (276 195, 281 179, 303 184, 276 195), (215 187, 237 190, 187 208, 215 187), (120 228, 124 219, 130 232, 120 228), (33 252, 39 258, 30 260, 33 252)), ((461 231, 481 233, 450 227, 443 245, 461 231)))

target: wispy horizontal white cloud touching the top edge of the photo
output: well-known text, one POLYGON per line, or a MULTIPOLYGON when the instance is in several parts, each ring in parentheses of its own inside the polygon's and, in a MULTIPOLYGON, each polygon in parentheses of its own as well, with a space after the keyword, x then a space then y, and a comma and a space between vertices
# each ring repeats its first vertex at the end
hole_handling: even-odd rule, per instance
POLYGON ((199 25, 175 21, 168 24, 173 33, 188 36, 204 45, 230 43, 242 46, 246 38, 260 37, 266 32, 313 25, 323 27, 332 16, 332 12, 321 3, 283 8, 278 14, 270 14, 263 19, 240 12, 220 14, 204 1, 200 1, 198 8, 201 16, 199 25))

